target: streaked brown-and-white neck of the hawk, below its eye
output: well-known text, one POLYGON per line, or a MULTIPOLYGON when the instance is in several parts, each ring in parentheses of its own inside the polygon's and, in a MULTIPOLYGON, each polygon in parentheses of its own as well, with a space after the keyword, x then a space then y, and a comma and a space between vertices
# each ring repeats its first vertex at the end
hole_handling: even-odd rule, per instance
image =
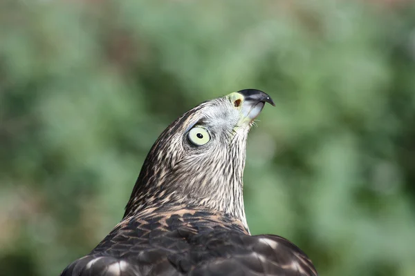
POLYGON ((225 165, 202 166, 203 172, 191 171, 187 166, 165 171, 156 166, 152 158, 156 155, 150 152, 131 193, 124 218, 150 208, 186 206, 238 219, 248 230, 242 180, 246 151, 244 144, 240 146, 243 148, 234 150, 241 156, 232 158, 225 165))

